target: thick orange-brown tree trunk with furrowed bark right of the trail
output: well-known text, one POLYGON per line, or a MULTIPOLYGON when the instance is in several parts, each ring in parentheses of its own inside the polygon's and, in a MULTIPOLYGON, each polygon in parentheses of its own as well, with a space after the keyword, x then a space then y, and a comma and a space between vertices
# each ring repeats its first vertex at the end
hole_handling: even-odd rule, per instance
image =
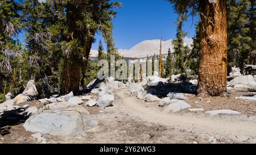
POLYGON ((218 96, 226 93, 227 77, 227 20, 226 0, 216 3, 200 1, 200 96, 218 96))

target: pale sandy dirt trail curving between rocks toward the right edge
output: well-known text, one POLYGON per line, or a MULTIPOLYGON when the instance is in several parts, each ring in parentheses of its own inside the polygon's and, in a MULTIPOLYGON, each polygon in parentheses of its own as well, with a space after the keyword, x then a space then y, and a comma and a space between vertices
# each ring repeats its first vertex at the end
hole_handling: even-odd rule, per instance
MULTIPOLYGON (((119 102, 122 102, 122 108, 129 111, 130 115, 137 116, 146 122, 159 123, 162 125, 178 127, 180 129, 193 129, 197 133, 206 135, 219 135, 236 137, 238 141, 251 140, 256 143, 256 123, 251 119, 239 119, 238 116, 230 115, 227 119, 211 118, 207 115, 195 117, 191 115, 178 115, 161 111, 155 106, 146 106, 142 100, 129 96, 124 91, 116 91, 119 102)), ((117 106, 114 104, 114 106, 117 106)), ((255 118, 254 118, 255 120, 255 118)))

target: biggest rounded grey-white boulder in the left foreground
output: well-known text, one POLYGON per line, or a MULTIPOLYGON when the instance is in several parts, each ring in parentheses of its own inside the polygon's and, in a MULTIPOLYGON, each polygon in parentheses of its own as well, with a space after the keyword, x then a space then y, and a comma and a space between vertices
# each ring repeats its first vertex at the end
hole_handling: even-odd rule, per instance
POLYGON ((23 127, 30 132, 70 138, 81 135, 96 125, 85 108, 75 104, 61 103, 59 107, 51 105, 49 110, 42 110, 32 115, 23 127))

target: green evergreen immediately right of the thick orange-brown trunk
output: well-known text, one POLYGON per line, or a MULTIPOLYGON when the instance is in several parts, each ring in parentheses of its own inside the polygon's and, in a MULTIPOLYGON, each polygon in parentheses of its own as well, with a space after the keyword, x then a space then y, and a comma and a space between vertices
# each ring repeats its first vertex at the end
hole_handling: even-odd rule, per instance
POLYGON ((228 1, 228 62, 232 66, 240 66, 241 69, 243 64, 249 63, 251 49, 249 9, 248 0, 228 1))

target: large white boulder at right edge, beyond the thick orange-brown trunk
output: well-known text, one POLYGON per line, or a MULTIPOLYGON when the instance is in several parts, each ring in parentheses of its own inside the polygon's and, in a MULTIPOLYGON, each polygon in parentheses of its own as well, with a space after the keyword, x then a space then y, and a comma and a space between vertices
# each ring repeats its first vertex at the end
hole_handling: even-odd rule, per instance
POLYGON ((253 76, 241 76, 241 77, 236 77, 230 81, 232 85, 246 85, 246 86, 256 86, 256 82, 254 81, 253 76))

